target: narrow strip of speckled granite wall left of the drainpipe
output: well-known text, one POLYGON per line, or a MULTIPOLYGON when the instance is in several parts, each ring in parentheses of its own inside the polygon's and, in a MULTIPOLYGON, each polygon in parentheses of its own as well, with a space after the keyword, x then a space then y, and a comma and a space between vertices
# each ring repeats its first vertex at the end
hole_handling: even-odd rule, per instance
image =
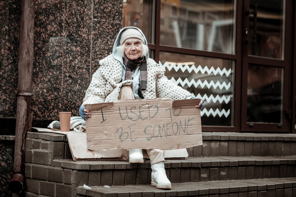
POLYGON ((20 1, 0 0, 0 118, 16 115, 20 1))

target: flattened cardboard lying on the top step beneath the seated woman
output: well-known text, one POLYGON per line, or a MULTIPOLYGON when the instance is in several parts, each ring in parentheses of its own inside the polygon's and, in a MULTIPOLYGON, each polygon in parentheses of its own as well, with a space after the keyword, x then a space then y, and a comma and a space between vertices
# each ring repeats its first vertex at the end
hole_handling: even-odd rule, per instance
MULTIPOLYGON (((47 132, 47 133, 59 133, 67 136, 68 144, 70 147, 70 151, 72 154, 73 161, 80 160, 120 160, 122 156, 121 149, 113 149, 113 150, 88 150, 86 147, 86 133, 84 132, 62 132, 55 131, 49 128, 38 128, 32 127, 33 130, 38 132, 47 132)), ((165 151, 165 158, 173 158, 173 157, 188 157, 188 153, 186 149, 179 150, 169 150, 165 151)))

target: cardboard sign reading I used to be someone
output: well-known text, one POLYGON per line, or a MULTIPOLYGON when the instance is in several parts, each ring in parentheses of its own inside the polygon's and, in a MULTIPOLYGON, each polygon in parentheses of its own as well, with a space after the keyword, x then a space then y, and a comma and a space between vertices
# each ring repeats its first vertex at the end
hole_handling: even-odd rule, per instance
POLYGON ((117 100, 88 104, 87 148, 181 149, 202 144, 199 99, 117 100))

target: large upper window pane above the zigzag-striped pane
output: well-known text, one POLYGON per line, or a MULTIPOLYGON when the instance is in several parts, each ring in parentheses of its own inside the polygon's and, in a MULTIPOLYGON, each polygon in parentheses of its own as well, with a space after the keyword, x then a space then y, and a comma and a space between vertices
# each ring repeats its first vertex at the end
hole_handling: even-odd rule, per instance
POLYGON ((234 54, 235 0, 161 0, 160 44, 234 54))

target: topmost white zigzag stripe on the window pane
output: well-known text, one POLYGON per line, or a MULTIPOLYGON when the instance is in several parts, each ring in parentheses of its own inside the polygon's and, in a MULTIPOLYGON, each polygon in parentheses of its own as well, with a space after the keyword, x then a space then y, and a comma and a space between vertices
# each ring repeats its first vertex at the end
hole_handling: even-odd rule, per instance
POLYGON ((220 69, 220 67, 218 67, 217 69, 214 69, 214 67, 212 66, 210 69, 205 66, 204 68, 202 68, 202 66, 198 66, 197 68, 194 66, 194 64, 192 64, 190 67, 188 64, 185 64, 184 66, 182 66, 182 64, 178 64, 178 66, 176 66, 175 63, 172 63, 171 65, 168 64, 168 62, 165 62, 164 64, 161 64, 161 62, 159 62, 159 65, 162 66, 163 68, 167 68, 169 71, 171 69, 175 69, 175 71, 177 72, 179 69, 181 69, 182 72, 184 71, 189 71, 189 73, 191 73, 193 70, 194 72, 197 74, 199 71, 202 74, 205 74, 205 72, 207 72, 207 74, 211 74, 213 73, 214 75, 217 75, 218 73, 222 76, 223 74, 225 74, 226 76, 229 76, 231 73, 231 69, 226 70, 226 68, 223 68, 222 70, 220 69))

